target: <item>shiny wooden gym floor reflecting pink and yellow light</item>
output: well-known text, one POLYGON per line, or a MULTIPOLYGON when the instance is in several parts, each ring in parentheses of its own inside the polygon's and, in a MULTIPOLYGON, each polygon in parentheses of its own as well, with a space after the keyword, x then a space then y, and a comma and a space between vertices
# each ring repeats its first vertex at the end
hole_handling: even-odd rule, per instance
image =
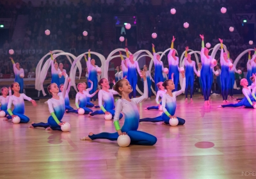
MULTIPOLYGON (((212 105, 205 107, 199 96, 188 104, 178 97, 175 115, 186 120, 184 126, 140 123, 139 130, 157 137, 154 146, 80 141, 91 131, 115 132, 113 121, 103 115, 65 114, 71 132, 1 119, 0 178, 255 178, 256 109, 218 109, 221 102, 212 97, 212 105)), ((141 118, 161 114, 144 110, 152 104, 154 99, 138 106, 141 118)), ((26 102, 26 115, 31 121, 47 121, 44 100, 37 107, 26 102)))

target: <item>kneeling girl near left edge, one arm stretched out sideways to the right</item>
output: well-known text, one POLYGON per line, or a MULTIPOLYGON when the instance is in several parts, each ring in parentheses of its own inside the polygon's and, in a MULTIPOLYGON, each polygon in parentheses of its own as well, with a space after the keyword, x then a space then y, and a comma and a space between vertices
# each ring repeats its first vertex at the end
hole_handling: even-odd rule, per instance
MULTIPOLYGON (((13 95, 8 100, 8 113, 12 118, 15 116, 19 116, 20 123, 28 123, 29 118, 28 116, 24 115, 25 112, 25 104, 24 99, 30 101, 33 106, 36 106, 35 100, 32 100, 31 98, 27 97, 24 93, 19 93, 20 91, 20 85, 18 82, 13 82, 11 86, 13 90, 13 95), (12 111, 12 104, 14 105, 14 109, 12 111)), ((10 119, 10 118, 8 118, 10 119)))

